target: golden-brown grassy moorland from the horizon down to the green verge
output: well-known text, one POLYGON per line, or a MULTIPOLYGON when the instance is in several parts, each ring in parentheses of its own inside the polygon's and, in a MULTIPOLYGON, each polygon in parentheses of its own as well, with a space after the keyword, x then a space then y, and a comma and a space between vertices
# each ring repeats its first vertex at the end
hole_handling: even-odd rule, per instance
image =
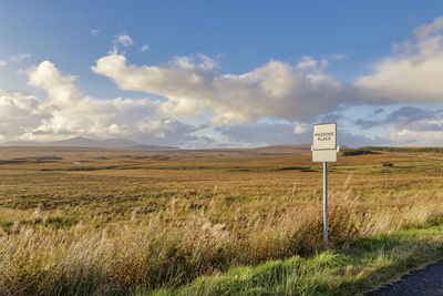
MULTIPOLYGON (((319 256, 356 262, 352 254, 364 239, 443 222, 443 154, 339 156, 329 171, 334 251, 319 253, 320 165, 307 147, 0 149, 0 294, 173 293, 168 288, 244 265, 251 267, 238 268, 289 266, 281 268, 290 280, 299 277, 293 264, 319 256), (286 258, 289 263, 279 262, 286 258)), ((420 245, 421 253, 431 251, 416 264, 435 258, 439 244, 420 245)), ((402 262, 392 261, 392 266, 402 262)), ((375 276, 360 290, 389 276, 375 276)), ((235 290, 249 293, 245 285, 235 290)), ((276 284, 268 290, 303 292, 279 285, 286 288, 276 284)))

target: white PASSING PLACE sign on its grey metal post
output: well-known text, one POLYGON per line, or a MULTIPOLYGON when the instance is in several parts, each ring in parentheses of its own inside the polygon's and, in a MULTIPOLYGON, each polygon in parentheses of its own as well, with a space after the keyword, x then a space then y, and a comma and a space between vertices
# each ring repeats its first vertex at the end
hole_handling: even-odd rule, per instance
POLYGON ((312 161, 323 163, 323 232, 328 248, 328 162, 337 162, 337 123, 315 124, 312 130, 312 161))

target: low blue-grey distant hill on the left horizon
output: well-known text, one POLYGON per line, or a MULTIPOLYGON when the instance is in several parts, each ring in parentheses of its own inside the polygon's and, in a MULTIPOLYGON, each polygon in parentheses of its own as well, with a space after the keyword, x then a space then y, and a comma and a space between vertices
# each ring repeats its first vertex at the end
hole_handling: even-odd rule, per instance
POLYGON ((137 142, 124 139, 93 140, 87 137, 73 137, 64 141, 53 142, 31 142, 31 141, 11 141, 1 144, 1 146, 38 146, 38 147, 97 147, 97 149, 114 149, 127 151, 174 151, 177 147, 142 145, 137 142))

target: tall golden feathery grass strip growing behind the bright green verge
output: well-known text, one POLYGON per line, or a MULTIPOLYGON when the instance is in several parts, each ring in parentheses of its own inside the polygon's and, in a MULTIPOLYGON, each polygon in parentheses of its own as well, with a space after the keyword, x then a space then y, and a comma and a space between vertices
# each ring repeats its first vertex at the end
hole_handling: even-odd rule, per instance
MULTIPOLYGON (((93 223, 48 227, 45 221, 17 225, 0 236, 0 294, 152 290, 231 266, 307 255, 322 247, 322 213, 315 202, 286 211, 270 208, 267 215, 241 216, 237 208, 225 213, 231 215, 231 223, 225 224, 213 223, 212 211, 216 210, 179 220, 169 207, 146 221, 99 228, 93 223)), ((330 242, 333 247, 357 237, 442 220, 443 205, 434 197, 399 198, 388 204, 331 196, 330 242)))

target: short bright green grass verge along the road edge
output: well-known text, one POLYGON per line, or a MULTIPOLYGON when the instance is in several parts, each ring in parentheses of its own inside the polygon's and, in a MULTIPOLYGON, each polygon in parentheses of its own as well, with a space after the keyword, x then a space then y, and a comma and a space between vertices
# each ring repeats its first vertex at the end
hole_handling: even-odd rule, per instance
POLYGON ((236 267, 147 295, 359 295, 442 257, 442 226, 409 229, 361 238, 308 258, 236 267))

